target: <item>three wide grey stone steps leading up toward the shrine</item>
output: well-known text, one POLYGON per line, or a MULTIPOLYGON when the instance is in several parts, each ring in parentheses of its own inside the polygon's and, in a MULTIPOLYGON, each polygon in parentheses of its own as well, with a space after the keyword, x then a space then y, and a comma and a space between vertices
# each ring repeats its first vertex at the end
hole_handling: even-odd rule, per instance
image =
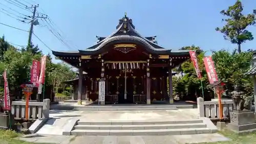
POLYGON ((201 119, 179 121, 77 121, 71 135, 183 135, 214 133, 201 119))

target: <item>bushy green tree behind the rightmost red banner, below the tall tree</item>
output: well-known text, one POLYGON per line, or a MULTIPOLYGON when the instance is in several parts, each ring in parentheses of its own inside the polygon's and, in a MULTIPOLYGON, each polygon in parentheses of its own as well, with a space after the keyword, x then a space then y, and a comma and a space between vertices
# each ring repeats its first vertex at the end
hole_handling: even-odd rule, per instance
POLYGON ((251 58, 251 51, 241 52, 240 54, 236 50, 232 52, 227 50, 212 52, 218 78, 226 84, 227 92, 233 91, 234 85, 240 85, 247 95, 252 94, 251 79, 244 74, 250 69, 251 58))

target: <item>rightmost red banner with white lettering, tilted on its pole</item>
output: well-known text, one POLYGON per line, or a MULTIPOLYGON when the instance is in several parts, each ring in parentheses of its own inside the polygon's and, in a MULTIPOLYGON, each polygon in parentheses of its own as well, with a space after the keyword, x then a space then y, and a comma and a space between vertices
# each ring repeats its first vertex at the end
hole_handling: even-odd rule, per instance
POLYGON ((214 67, 214 61, 211 56, 206 56, 203 58, 205 70, 209 79, 210 84, 214 84, 218 81, 218 75, 214 67))

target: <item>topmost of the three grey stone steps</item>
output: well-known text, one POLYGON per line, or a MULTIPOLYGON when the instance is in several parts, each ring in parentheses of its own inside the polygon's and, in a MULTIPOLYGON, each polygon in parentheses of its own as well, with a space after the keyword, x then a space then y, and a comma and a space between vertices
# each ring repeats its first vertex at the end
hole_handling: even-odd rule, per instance
POLYGON ((178 121, 83 121, 79 120, 78 125, 164 125, 164 124, 199 124, 201 119, 178 120, 178 121))

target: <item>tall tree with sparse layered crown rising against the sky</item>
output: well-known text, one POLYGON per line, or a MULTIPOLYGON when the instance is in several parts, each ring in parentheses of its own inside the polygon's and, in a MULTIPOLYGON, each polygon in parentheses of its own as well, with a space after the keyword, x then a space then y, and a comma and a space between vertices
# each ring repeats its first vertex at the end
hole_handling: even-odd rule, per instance
POLYGON ((248 26, 255 24, 256 10, 252 14, 244 15, 243 5, 241 1, 237 1, 233 6, 228 7, 227 10, 222 10, 220 13, 228 18, 222 19, 226 24, 222 27, 216 28, 224 34, 224 38, 229 40, 232 44, 238 45, 238 53, 241 53, 241 44, 247 40, 252 40, 253 35, 246 30, 248 26))

